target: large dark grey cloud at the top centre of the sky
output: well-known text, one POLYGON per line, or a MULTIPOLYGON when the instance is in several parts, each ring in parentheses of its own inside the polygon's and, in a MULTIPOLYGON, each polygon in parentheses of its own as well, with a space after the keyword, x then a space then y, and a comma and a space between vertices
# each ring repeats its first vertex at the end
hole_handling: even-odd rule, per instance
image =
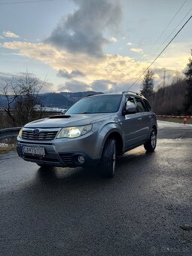
POLYGON ((50 37, 44 42, 71 53, 103 56, 102 47, 110 40, 104 37, 106 29, 117 29, 121 19, 117 0, 74 0, 78 9, 63 17, 50 37))

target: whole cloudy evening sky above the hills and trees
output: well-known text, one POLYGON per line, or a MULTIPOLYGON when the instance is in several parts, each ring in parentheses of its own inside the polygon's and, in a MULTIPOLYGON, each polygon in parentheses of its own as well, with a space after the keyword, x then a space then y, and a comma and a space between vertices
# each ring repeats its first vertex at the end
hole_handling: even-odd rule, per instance
MULTIPOLYGON (((27 71, 44 93, 128 90, 191 14, 191 0, 0 0, 0 84, 27 71)), ((182 76, 191 27, 151 66, 156 87, 182 76)))

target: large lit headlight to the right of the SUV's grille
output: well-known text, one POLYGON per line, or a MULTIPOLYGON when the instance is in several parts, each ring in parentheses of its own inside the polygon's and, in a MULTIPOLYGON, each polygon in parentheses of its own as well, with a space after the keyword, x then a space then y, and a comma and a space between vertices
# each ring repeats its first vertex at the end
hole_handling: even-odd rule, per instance
POLYGON ((88 133, 91 128, 92 124, 62 128, 56 138, 77 138, 88 133))

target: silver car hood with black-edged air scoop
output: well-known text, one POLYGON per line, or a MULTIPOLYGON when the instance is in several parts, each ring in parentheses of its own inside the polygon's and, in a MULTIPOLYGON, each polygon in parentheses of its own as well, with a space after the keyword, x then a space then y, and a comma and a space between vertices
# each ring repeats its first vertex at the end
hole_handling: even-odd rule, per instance
POLYGON ((114 113, 108 114, 62 114, 53 117, 44 118, 41 120, 35 120, 31 123, 27 123, 26 128, 56 128, 56 127, 68 127, 68 126, 81 126, 94 123, 98 120, 106 120, 110 118, 114 113))

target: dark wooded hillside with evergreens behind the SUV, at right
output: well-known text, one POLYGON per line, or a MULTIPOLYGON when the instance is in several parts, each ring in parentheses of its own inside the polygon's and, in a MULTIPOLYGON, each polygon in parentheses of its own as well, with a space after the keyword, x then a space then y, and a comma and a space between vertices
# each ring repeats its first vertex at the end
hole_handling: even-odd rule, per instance
POLYGON ((141 93, 156 114, 192 115, 192 59, 189 59, 182 78, 157 90, 154 90, 154 73, 148 69, 142 81, 141 93))

